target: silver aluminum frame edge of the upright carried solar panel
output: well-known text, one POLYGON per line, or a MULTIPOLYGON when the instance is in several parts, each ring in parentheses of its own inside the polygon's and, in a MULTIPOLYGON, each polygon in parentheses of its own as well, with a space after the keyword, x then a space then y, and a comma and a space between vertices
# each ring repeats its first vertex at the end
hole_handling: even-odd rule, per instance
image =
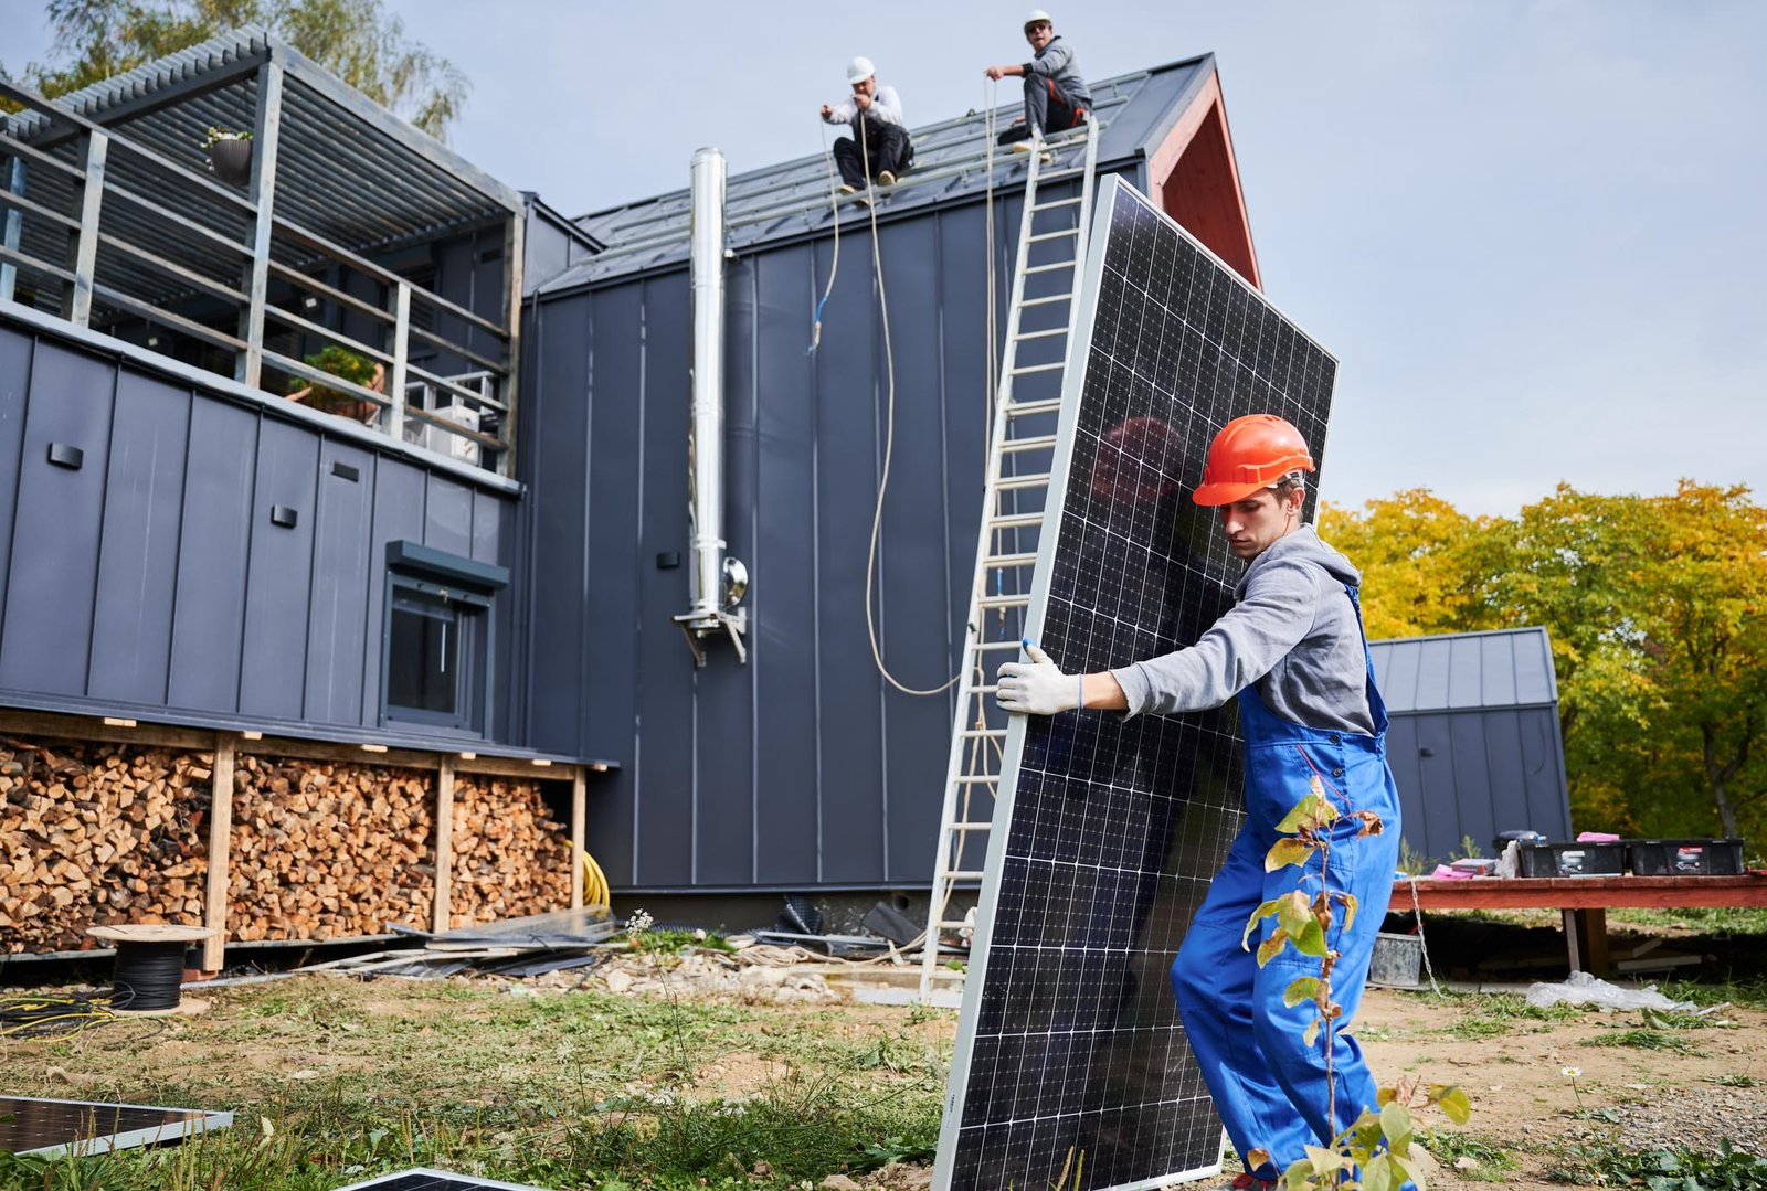
MULTIPOLYGON (((1099 292, 1104 274, 1104 262, 1110 249, 1110 230, 1111 216, 1117 209, 1119 196, 1127 193, 1134 201, 1143 203, 1154 210, 1161 219, 1164 219, 1172 228, 1177 230, 1180 237, 1189 240, 1189 244, 1223 269, 1235 283, 1256 293, 1258 302, 1270 307, 1272 313, 1279 315, 1290 327, 1299 334, 1306 336, 1301 325, 1283 315, 1263 293, 1256 288, 1246 284, 1244 277, 1233 270, 1232 265, 1223 262, 1216 253, 1209 251, 1194 235, 1186 231, 1182 226, 1173 223, 1141 196, 1133 186, 1122 180, 1119 175, 1108 175, 1101 178, 1097 191, 1097 200, 1092 210, 1092 228, 1090 239, 1087 240, 1087 262, 1083 263, 1083 274, 1080 281, 1080 311, 1074 322, 1073 339, 1069 346, 1069 369, 1062 378, 1062 405, 1057 421, 1055 449, 1050 465, 1050 488, 1048 498, 1044 502, 1043 528, 1037 541, 1037 562, 1032 576, 1030 604, 1025 610, 1025 627, 1030 640, 1041 640, 1044 631, 1044 618, 1050 603, 1050 587, 1055 571, 1055 551, 1060 541, 1062 516, 1067 505, 1069 489, 1069 472, 1073 468, 1074 442, 1080 426, 1080 403, 1087 382, 1087 368, 1073 366, 1074 362, 1085 362, 1090 357, 1094 323, 1099 307, 1099 292)), ((1306 336, 1313 345, 1316 339, 1306 336)), ((1323 352, 1323 348, 1320 348, 1323 352)), ((1336 357, 1329 352, 1325 355, 1332 360, 1336 371, 1336 357)), ((1316 500, 1316 493, 1309 493, 1309 500, 1316 500)), ((945 1089, 945 1111, 940 1124, 938 1152, 933 1168, 933 1187, 935 1191, 949 1191, 952 1184, 952 1173, 958 1159, 958 1140, 963 1126, 965 1097, 968 1092, 970 1067, 974 1060, 974 1043, 977 1035, 977 1027, 982 1011, 982 990, 988 975, 988 952, 993 938, 993 914, 1000 901, 1000 884, 1002 873, 1007 861, 1007 846, 1011 836, 1012 808, 1014 797, 1018 793, 1020 769, 1025 756, 1025 732, 1027 717, 1012 716, 1007 724, 1007 735, 1004 742, 1004 753, 1000 760, 1000 779, 998 792, 995 797, 993 823, 995 829, 990 832, 986 862, 982 868, 981 896, 977 903, 977 921, 975 935, 970 951, 968 972, 963 984, 963 1004, 958 1014, 958 1039, 956 1050, 951 1062, 951 1078, 945 1089)), ((1226 1134, 1223 1131, 1223 1147, 1226 1147, 1226 1134)), ((1198 1179, 1209 1179, 1221 1173, 1221 1159, 1217 1157, 1212 1164, 1198 1166, 1182 1172, 1159 1172, 1147 1179, 1136 1182, 1117 1184, 1111 1191, 1150 1191, 1154 1187, 1170 1186, 1173 1182, 1189 1182, 1198 1179)))

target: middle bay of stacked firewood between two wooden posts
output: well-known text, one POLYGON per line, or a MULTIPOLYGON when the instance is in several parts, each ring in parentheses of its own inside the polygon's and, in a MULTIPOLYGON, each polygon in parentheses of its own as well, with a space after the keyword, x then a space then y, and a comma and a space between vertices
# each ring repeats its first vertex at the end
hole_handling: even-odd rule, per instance
POLYGON ((233 770, 235 940, 419 929, 435 905, 433 778, 410 769, 242 756, 233 770))

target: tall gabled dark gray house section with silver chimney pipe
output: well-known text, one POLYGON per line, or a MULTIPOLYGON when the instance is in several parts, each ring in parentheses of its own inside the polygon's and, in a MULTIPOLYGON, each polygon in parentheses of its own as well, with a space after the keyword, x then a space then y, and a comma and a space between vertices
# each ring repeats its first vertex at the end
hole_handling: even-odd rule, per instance
MULTIPOLYGON (((1126 175, 1256 283, 1214 60, 1094 87, 1099 170, 1126 175)), ((590 788, 590 848, 647 892, 924 887, 951 696, 880 675, 866 555, 894 359, 894 452, 873 608, 908 686, 958 664, 984 468, 990 254, 1005 307, 1023 159, 984 117, 914 131, 915 170, 836 216, 822 157, 730 178, 724 535, 753 580, 747 661, 696 668, 687 603, 687 191, 599 212, 606 244, 539 286, 525 327, 519 475, 532 486, 532 744, 620 762, 590 788), (884 341, 880 297, 889 304, 884 341)), ((1076 191, 1078 193, 1078 191, 1076 191)), ((1055 186, 1043 200, 1055 200, 1055 186)))

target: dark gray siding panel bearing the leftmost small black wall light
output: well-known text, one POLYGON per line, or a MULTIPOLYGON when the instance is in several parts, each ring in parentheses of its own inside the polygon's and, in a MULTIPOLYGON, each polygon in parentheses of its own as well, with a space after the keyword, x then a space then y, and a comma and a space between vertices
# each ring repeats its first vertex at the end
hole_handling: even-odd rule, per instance
POLYGON ((37 343, 0 626, 0 687, 87 691, 115 382, 102 362, 37 343), (51 444, 83 451, 80 470, 49 463, 51 444))

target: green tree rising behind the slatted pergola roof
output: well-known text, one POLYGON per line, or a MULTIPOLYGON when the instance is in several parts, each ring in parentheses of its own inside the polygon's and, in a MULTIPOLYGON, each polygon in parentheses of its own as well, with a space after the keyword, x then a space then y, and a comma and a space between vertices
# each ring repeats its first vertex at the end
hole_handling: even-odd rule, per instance
POLYGON ((51 62, 28 64, 21 78, 49 97, 223 30, 263 25, 431 136, 445 138, 466 101, 466 76, 410 41, 382 0, 48 0, 48 16, 55 28, 51 62))

